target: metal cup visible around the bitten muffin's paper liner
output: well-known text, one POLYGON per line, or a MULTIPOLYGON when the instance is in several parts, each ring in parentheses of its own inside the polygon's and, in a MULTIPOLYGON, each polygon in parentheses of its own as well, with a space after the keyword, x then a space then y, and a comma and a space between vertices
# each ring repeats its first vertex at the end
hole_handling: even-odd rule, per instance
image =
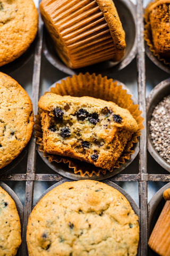
MULTIPOLYGON (((63 78, 62 80, 66 79, 63 78)), ((57 81, 56 83, 60 84, 61 81, 57 81)), ((115 82, 117 80, 113 80, 113 82, 115 82)), ((54 83, 52 86, 50 86, 50 88, 55 87, 56 83, 54 83)), ((128 87, 126 87, 122 82, 117 81, 117 85, 122 85, 122 89, 126 90, 127 94, 131 95, 131 100, 133 101, 133 104, 138 104, 137 99, 134 97, 134 95, 131 93, 131 91, 128 89, 128 87)), ((50 91, 50 89, 48 90, 50 91)), ((100 173, 99 176, 92 174, 91 177, 89 177, 89 175, 84 175, 83 177, 80 175, 80 173, 75 174, 73 172, 73 170, 71 168, 68 167, 67 164, 64 163, 56 163, 55 161, 53 162, 49 162, 48 161, 48 157, 45 157, 43 152, 38 150, 38 154, 40 155, 40 157, 43 159, 43 161, 55 172, 61 174, 63 177, 69 178, 69 179, 73 179, 73 180, 80 180, 80 179, 91 179, 91 180, 104 180, 107 178, 111 178, 114 175, 120 173, 121 171, 123 171, 129 164, 132 163, 132 161, 134 160, 134 158, 138 155, 139 153, 139 140, 137 143, 133 144, 132 150, 134 150, 134 153, 130 156, 129 160, 125 160, 124 164, 120 164, 119 168, 115 168, 114 171, 109 172, 107 171, 106 174, 102 174, 100 173)), ((87 165, 88 168, 90 168, 90 165, 87 165)))

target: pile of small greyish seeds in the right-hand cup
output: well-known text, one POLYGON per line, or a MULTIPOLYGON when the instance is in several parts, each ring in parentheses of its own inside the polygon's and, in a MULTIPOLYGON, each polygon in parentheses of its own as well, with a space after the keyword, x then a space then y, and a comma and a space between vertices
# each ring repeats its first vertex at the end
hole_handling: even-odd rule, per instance
POLYGON ((152 113, 150 138, 160 156, 170 163, 170 94, 158 103, 152 113))

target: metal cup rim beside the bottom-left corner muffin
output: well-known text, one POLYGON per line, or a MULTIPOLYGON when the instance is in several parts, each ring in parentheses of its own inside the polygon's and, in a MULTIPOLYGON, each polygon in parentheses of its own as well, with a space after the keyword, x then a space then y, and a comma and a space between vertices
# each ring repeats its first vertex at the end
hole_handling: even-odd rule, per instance
MULTIPOLYGON (((21 222, 21 237, 22 237, 22 227, 23 227, 23 205, 19 199, 19 197, 14 193, 14 191, 8 187, 4 182, 0 181, 0 186, 12 197, 15 202, 16 209, 18 210, 18 214, 21 222)), ((16 253, 16 256, 21 256, 21 246, 16 253)))

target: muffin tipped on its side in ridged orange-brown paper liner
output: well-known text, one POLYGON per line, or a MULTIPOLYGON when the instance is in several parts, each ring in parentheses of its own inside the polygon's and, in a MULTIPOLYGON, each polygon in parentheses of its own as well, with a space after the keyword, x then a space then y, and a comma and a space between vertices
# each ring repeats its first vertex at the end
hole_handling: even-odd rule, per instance
POLYGON ((67 66, 76 69, 123 58, 125 33, 112 0, 43 0, 39 9, 67 66))

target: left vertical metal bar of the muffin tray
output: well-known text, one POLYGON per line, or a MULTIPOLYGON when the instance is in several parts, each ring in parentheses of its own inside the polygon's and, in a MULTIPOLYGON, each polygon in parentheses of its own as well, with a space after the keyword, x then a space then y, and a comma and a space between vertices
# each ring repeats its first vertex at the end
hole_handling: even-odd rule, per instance
MULTIPOLYGON (((40 70, 41 70, 41 51, 43 47, 43 21, 39 14, 38 26, 38 40, 35 48, 35 57, 33 61, 33 76, 32 76, 32 105, 34 115, 38 113, 38 99, 39 99, 39 86, 40 86, 40 70)), ((36 138, 35 133, 32 133, 31 141, 29 142, 28 159, 27 159, 27 173, 25 183, 25 204, 23 215, 23 235, 21 255, 28 255, 26 243, 26 231, 28 217, 32 210, 33 202, 33 183, 35 181, 35 166, 36 166, 36 138), (27 176, 32 174, 32 180, 28 180, 27 176)))

